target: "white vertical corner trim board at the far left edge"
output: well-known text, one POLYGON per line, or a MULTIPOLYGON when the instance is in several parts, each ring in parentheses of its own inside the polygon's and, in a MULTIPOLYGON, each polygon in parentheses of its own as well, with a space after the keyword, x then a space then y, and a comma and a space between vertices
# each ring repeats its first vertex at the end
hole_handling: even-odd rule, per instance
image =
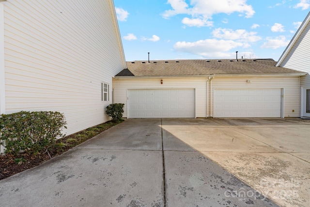
POLYGON ((4 5, 0 3, 0 114, 5 113, 4 5))

